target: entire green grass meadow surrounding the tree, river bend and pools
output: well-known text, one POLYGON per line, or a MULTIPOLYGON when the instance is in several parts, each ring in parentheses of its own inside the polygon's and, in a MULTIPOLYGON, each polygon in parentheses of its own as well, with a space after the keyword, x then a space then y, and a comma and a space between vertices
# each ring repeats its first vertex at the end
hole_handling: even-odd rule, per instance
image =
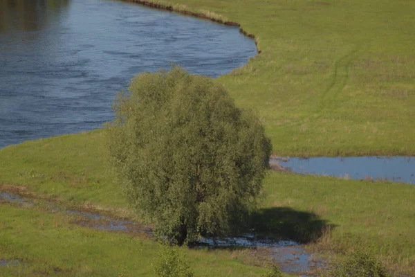
MULTIPOLYGON (((257 112, 284 156, 415 154, 415 2, 174 0, 236 21, 261 53, 216 79, 257 112)), ((230 46, 232 47, 232 46, 230 46)), ((115 93, 115 92, 114 92, 115 93)), ((0 150, 0 191, 132 217, 107 166, 101 130, 0 150)), ((415 186, 270 172, 252 227, 328 261, 373 249, 415 276, 415 186)), ((157 244, 95 231, 63 213, 0 204, 0 276, 152 276, 157 244)), ((185 250, 196 276, 261 276, 244 251, 185 250)))

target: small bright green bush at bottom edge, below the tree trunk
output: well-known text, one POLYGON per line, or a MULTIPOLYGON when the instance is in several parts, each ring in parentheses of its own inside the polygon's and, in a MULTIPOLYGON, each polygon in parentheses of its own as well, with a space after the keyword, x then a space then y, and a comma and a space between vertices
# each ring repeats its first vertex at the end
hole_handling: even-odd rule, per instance
POLYGON ((154 265, 157 277, 193 277, 185 256, 178 247, 160 245, 158 260, 154 265))

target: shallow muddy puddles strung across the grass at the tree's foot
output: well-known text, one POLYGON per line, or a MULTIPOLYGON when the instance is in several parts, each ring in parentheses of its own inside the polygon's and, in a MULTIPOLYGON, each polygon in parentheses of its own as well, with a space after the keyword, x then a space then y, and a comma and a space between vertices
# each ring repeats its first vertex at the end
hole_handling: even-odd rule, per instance
MULTIPOLYGON (((21 197, 12 193, 0 192, 0 203, 8 202, 19 206, 36 206, 36 200, 21 197)), ((75 223, 81 226, 88 226, 93 229, 104 231, 121 231, 125 233, 145 233, 152 235, 149 226, 132 222, 129 220, 118 220, 107 215, 91 213, 86 211, 67 210, 57 206, 52 202, 42 202, 50 211, 61 211, 77 217, 75 223)), ((262 249, 270 255, 273 261, 277 262, 283 271, 292 274, 303 274, 312 271, 315 267, 322 267, 322 262, 316 260, 308 253, 301 244, 293 240, 272 240, 259 238, 253 234, 241 235, 236 238, 203 238, 200 240, 200 247, 220 248, 220 247, 246 247, 250 249, 262 249)), ((0 265, 15 265, 18 260, 1 260, 0 265)))

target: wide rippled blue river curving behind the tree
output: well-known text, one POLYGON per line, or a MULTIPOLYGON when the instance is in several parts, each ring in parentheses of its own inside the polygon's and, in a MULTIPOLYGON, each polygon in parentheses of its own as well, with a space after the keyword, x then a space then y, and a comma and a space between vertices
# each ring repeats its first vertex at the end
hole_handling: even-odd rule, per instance
POLYGON ((0 148, 98 128, 133 75, 246 64, 238 28, 109 0, 0 0, 0 148))

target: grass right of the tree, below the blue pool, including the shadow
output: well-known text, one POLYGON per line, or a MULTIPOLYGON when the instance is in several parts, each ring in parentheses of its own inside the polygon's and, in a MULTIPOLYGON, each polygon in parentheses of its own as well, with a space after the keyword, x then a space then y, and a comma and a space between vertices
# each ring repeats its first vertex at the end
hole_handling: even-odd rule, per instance
POLYGON ((271 172, 266 190, 265 231, 317 238, 309 249, 329 260, 373 249, 389 269, 415 276, 415 186, 271 172))

